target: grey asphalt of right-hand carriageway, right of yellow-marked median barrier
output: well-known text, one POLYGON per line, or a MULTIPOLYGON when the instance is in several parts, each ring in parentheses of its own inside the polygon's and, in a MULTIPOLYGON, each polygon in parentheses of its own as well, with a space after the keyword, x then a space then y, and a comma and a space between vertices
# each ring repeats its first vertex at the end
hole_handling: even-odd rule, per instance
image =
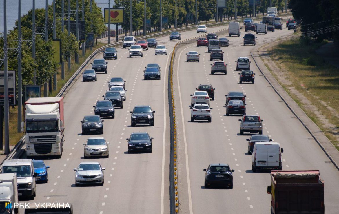
MULTIPOLYGON (((325 182, 325 213, 338 213, 339 172, 325 155, 310 133, 287 108, 271 85, 262 76, 251 58, 253 45, 242 45, 241 37, 228 37, 229 47, 222 47, 227 75, 211 75, 210 54, 206 47, 195 43, 180 48, 174 65, 175 104, 178 132, 179 202, 180 213, 270 213, 271 185, 269 172, 253 173, 252 156, 247 154, 251 134, 239 134, 241 116, 225 115, 225 96, 229 91, 243 92, 246 113, 259 114, 263 134, 267 134, 284 149, 283 170, 320 170, 325 182), (197 51, 200 62, 186 62, 188 51, 197 51), (239 56, 250 57, 251 69, 256 73, 255 83, 239 83, 235 61, 239 56), (191 96, 199 84, 211 83, 215 100, 211 101, 212 123, 190 121, 191 96), (234 169, 233 189, 205 189, 204 168, 211 163, 226 163, 234 169)), ((251 33, 251 32, 247 32, 251 33)), ((272 42, 274 37, 286 36, 293 31, 276 30, 257 36, 257 45, 272 42)), ((219 36, 220 38, 221 36, 219 36)))

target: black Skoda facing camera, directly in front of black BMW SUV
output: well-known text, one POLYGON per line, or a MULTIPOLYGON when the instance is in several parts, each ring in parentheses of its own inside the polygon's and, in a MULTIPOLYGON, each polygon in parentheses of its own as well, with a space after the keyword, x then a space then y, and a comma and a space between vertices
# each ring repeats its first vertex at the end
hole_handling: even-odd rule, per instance
POLYGON ((149 137, 147 132, 133 132, 126 140, 128 141, 128 153, 152 152, 153 137, 149 137))

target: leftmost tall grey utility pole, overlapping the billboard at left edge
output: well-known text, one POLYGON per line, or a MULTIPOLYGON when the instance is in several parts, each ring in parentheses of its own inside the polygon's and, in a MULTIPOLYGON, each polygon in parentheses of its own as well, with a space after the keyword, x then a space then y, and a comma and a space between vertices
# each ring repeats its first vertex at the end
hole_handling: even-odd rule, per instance
MULTIPOLYGON (((6 0, 3 0, 3 53, 4 53, 4 111, 5 111, 5 151, 4 154, 9 154, 9 105, 8 105, 8 65, 7 65, 7 13, 6 0)), ((19 15, 20 16, 20 15, 19 15)), ((1 115, 2 116, 2 115, 1 115)))

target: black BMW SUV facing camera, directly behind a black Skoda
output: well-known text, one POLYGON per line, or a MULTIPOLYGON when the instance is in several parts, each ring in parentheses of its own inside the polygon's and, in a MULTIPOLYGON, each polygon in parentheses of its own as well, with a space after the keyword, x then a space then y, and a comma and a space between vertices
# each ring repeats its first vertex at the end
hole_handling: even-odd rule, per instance
POLYGON ((137 124, 149 124, 154 126, 154 114, 151 106, 149 105, 136 105, 131 113, 131 126, 134 127, 137 124))

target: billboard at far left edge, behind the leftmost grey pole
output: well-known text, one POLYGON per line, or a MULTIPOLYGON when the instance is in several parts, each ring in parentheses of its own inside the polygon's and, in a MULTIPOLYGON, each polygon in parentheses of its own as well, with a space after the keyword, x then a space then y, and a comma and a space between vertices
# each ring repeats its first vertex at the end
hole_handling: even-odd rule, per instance
MULTIPOLYGON (((15 105, 15 71, 8 71, 8 104, 15 105)), ((4 71, 0 71, 0 105, 5 104, 4 71)))

